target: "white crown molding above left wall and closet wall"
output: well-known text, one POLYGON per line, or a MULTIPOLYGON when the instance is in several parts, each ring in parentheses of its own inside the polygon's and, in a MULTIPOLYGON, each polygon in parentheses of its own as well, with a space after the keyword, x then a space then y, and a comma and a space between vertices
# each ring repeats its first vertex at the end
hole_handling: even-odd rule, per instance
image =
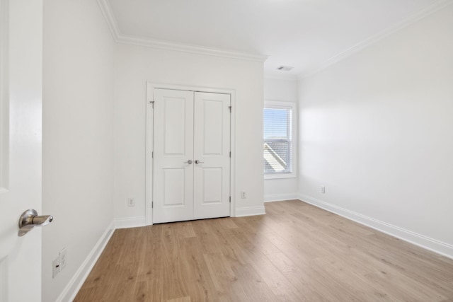
POLYGON ((171 41, 164 40, 155 40, 149 39, 146 37, 134 37, 131 35, 124 35, 121 33, 118 28, 115 16, 113 15, 112 8, 108 0, 97 0, 98 6, 101 8, 105 21, 108 24, 110 33, 113 36, 113 40, 117 43, 127 44, 127 45, 136 45, 142 47, 150 47, 159 50, 171 50, 176 52, 188 52, 190 54, 202 54, 214 57, 225 57, 229 59, 241 59, 246 61, 253 62, 265 62, 268 59, 267 56, 263 54, 250 54, 247 52, 236 52, 233 50, 221 50, 213 47, 204 47, 200 45, 189 45, 183 43, 176 43, 171 41))

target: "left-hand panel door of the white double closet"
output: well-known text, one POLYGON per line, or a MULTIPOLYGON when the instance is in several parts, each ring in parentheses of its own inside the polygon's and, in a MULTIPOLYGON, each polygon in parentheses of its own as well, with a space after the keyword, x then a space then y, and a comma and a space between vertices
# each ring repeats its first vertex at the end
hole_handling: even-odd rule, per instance
POLYGON ((153 223, 193 219, 193 92, 154 90, 153 223))

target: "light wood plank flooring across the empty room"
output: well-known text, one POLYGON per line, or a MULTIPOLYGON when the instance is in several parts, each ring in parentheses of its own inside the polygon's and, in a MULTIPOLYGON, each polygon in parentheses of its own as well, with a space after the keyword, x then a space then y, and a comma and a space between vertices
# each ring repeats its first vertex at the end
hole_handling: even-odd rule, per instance
POLYGON ((300 201, 115 231, 74 301, 453 301, 453 260, 300 201))

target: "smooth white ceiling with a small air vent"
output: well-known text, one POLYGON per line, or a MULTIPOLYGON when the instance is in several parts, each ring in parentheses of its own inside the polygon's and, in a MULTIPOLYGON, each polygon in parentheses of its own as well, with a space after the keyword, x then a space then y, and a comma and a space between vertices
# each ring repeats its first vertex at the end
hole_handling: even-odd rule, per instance
POLYGON ((301 76, 448 0, 107 0, 125 37, 264 54, 265 73, 301 76), (280 65, 292 71, 277 71, 280 65))

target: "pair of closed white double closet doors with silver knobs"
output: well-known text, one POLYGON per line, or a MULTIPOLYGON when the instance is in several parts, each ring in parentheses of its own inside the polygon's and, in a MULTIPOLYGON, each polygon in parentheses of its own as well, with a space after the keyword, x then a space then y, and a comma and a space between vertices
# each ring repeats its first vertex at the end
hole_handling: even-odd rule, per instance
POLYGON ((230 99, 154 89, 153 223, 230 216, 230 99))

